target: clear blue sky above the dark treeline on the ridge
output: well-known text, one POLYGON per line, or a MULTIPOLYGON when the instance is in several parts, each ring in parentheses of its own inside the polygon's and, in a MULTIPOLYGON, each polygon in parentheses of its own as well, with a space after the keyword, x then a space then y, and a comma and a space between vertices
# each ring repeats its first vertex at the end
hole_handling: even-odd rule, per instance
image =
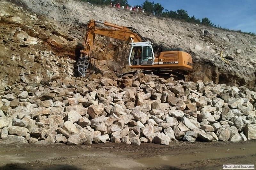
MULTIPOLYGON (((127 0, 141 5, 145 0, 127 0)), ((153 2, 153 0, 149 0, 153 2)), ((256 0, 154 0, 165 9, 184 9, 196 18, 207 17, 213 24, 232 30, 256 33, 256 0)))

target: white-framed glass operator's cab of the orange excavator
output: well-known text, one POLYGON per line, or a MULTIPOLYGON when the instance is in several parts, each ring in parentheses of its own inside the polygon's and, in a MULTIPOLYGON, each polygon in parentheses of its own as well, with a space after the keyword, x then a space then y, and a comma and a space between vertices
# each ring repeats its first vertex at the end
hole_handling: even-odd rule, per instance
POLYGON ((129 66, 153 65, 155 61, 154 51, 151 42, 132 42, 128 57, 129 66))

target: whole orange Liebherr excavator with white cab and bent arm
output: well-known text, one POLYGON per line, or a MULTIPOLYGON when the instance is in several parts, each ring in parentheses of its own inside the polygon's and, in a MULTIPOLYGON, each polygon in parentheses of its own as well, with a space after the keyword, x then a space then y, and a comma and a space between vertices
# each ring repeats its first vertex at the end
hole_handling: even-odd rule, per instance
MULTIPOLYGON (((120 26, 107 21, 90 20, 86 25, 86 35, 83 50, 77 63, 78 75, 85 77, 90 63, 92 63, 92 49, 95 34, 127 41, 131 45, 128 64, 132 69, 142 70, 192 70, 190 54, 178 49, 164 49, 161 46, 159 54, 155 55, 152 43, 143 41, 142 36, 132 27, 120 26), (110 28, 96 26, 101 24, 110 28)), ((132 73, 132 72, 130 72, 132 73)), ((124 74, 120 74, 121 76, 124 74)), ((119 76, 120 76, 119 75, 119 76)))

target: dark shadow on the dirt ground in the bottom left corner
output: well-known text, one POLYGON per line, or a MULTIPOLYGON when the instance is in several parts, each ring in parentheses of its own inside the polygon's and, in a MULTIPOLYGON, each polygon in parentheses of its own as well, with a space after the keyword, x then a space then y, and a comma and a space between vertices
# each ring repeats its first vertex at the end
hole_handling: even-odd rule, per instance
POLYGON ((47 169, 47 170, 81 170, 76 166, 71 165, 53 165, 53 166, 40 166, 40 167, 31 167, 27 164, 6 164, 1 166, 0 170, 30 170, 30 169, 47 169))

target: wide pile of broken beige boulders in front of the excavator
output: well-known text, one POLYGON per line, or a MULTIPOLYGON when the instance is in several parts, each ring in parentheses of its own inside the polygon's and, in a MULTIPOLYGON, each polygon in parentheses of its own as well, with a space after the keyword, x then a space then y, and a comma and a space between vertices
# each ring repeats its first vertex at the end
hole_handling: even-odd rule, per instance
POLYGON ((29 82, 5 86, 0 144, 256 139, 255 88, 143 73, 93 80, 38 76, 29 82))

